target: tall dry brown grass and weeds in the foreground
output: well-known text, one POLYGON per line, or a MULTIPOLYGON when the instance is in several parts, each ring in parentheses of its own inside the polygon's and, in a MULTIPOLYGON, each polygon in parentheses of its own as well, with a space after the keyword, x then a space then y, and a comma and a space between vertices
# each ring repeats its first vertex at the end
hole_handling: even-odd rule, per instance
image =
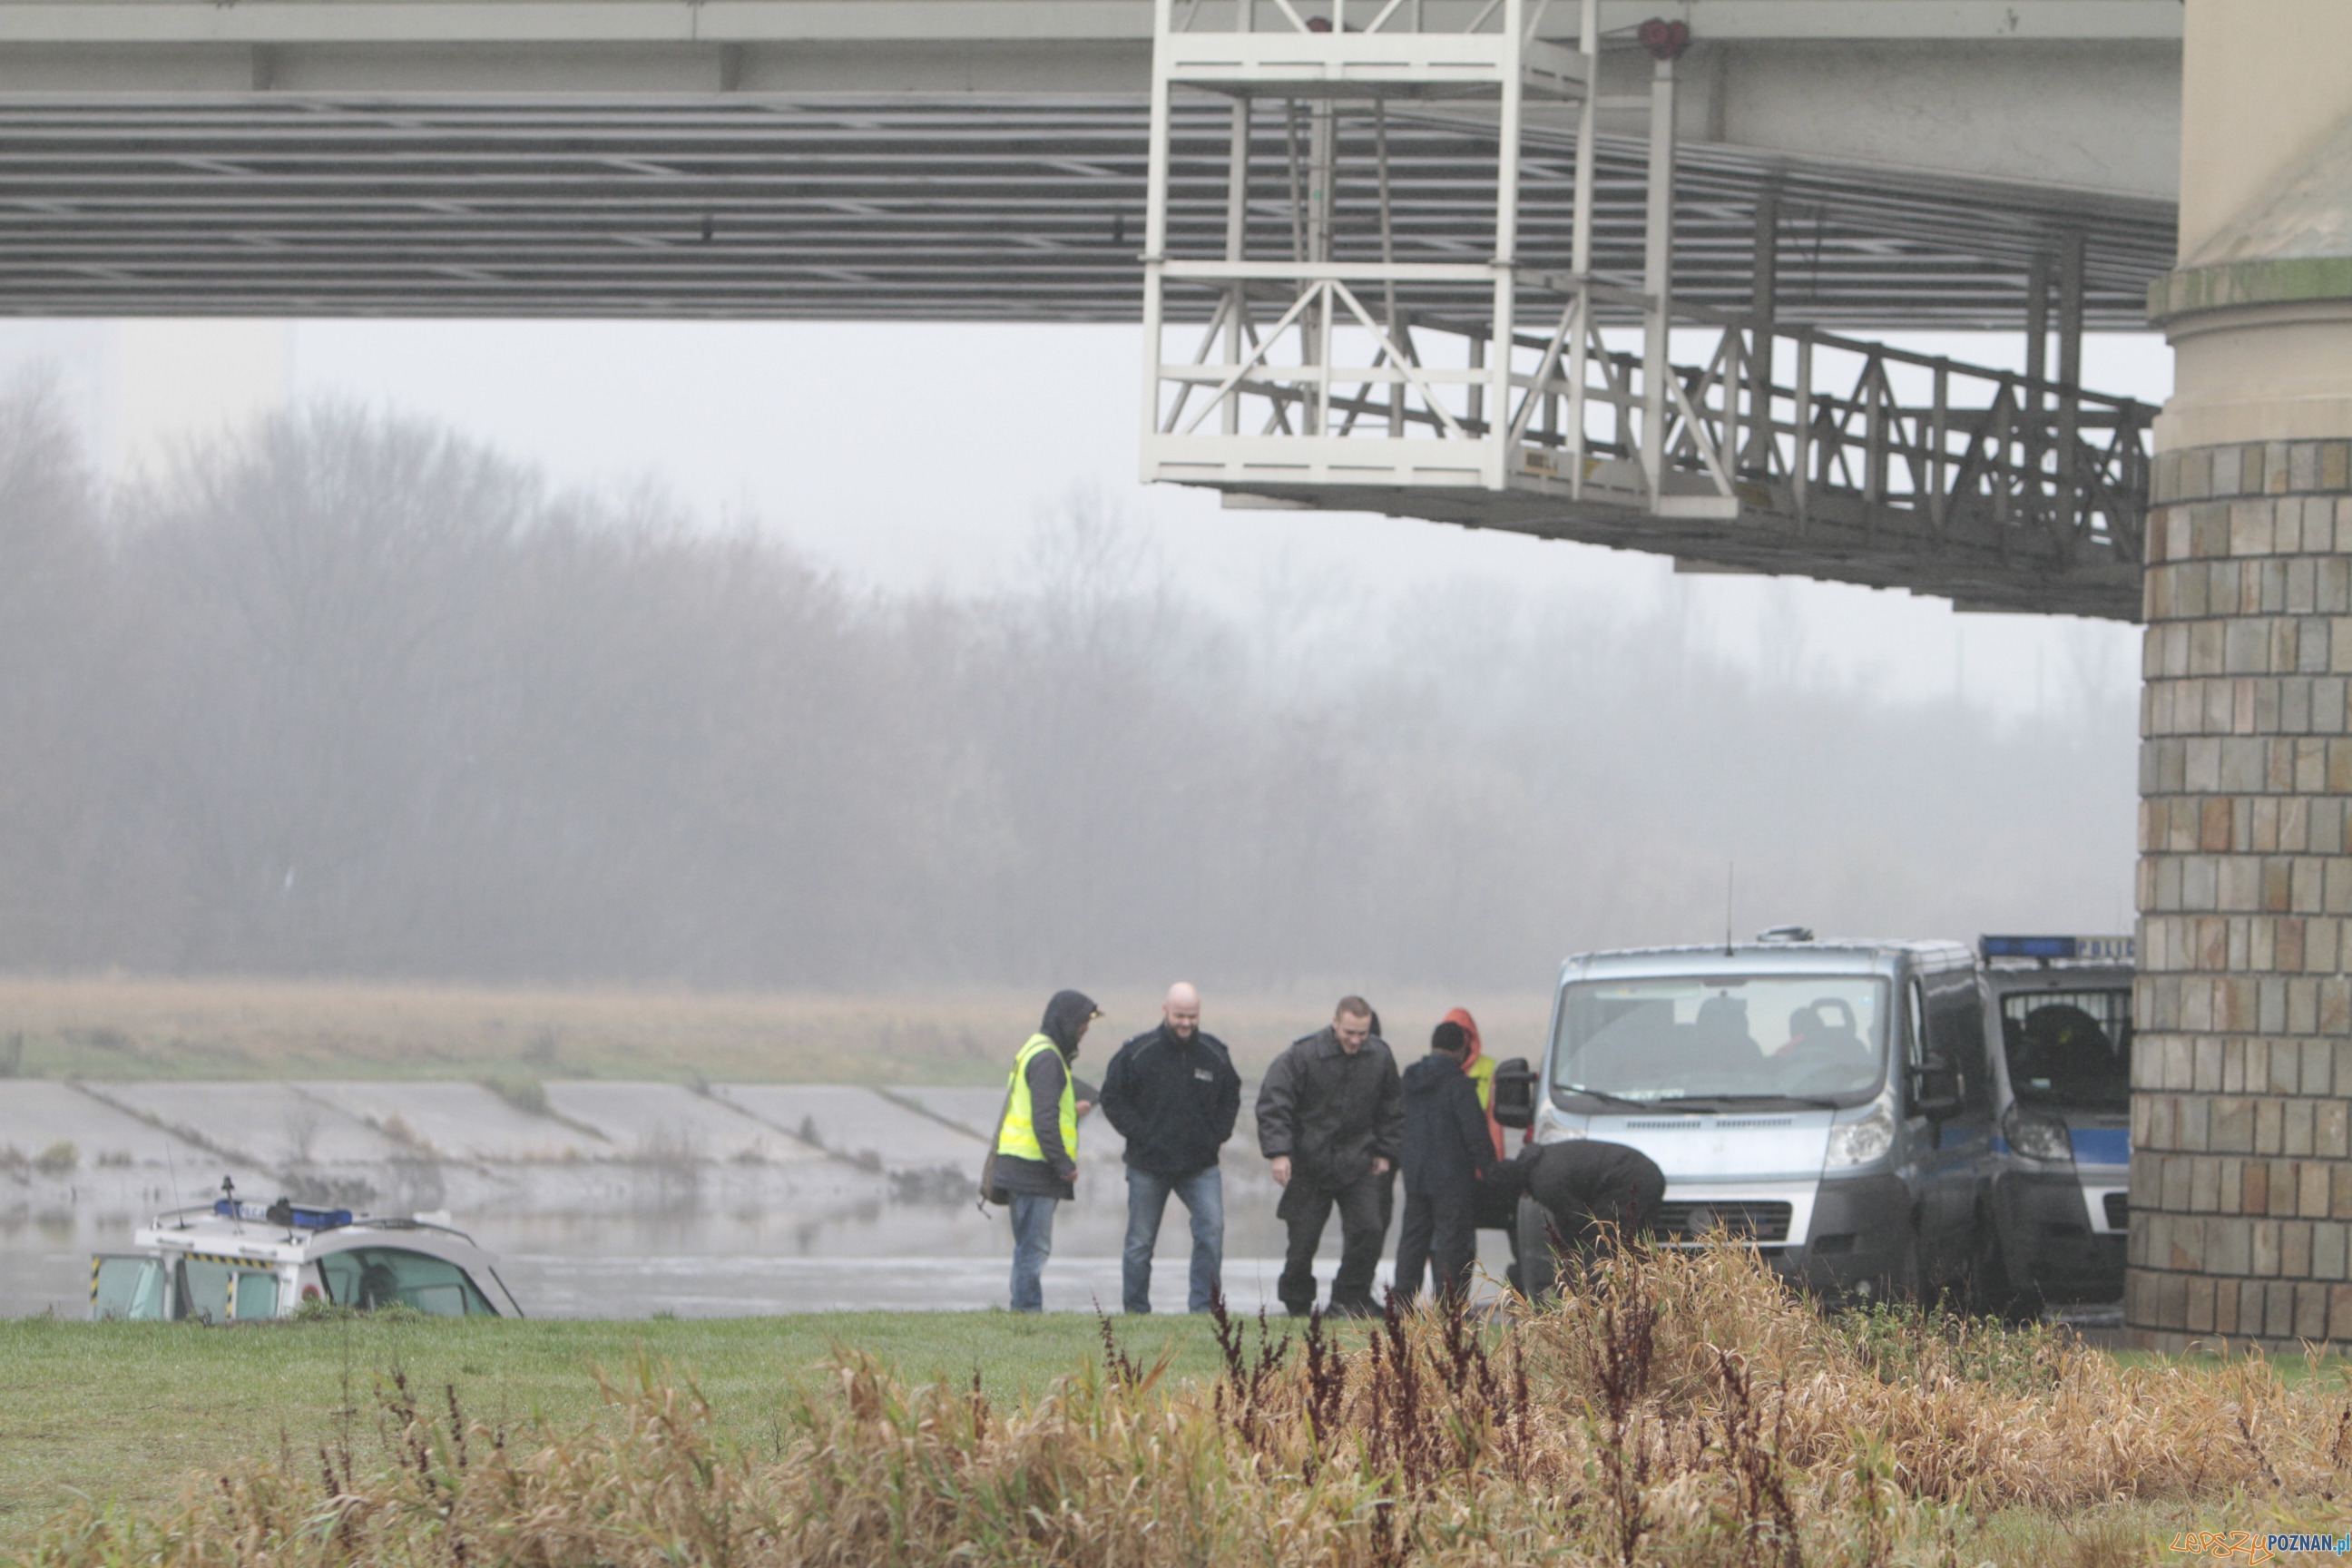
POLYGON ((160 1516, 85 1507, 31 1561, 1973 1568, 1985 1521, 2020 1512, 2027 1559, 2060 1566, 2147 1561, 2166 1512, 2352 1514, 2352 1406, 2317 1378, 1825 1316, 1738 1248, 1597 1265, 1498 1326, 1284 1342, 1221 1319, 1207 1385, 1103 1333, 1101 1363, 1018 1408, 844 1347, 755 1446, 717 1443, 694 1385, 644 1363, 583 1429, 395 1382, 367 1462, 343 1443, 207 1476, 160 1516))

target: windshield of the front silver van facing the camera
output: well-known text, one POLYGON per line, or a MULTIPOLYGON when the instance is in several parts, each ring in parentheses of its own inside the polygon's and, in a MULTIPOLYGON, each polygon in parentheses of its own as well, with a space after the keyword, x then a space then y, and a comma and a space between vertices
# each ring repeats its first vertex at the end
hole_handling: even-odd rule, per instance
POLYGON ((1867 1100, 1879 976, 1658 976, 1562 990, 1552 1086, 1616 1100, 1867 1100))

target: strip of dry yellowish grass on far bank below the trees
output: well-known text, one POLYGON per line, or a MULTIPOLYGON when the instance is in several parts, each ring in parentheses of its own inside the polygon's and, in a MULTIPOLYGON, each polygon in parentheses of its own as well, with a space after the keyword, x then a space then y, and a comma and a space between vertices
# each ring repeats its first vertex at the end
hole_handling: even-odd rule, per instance
MULTIPOLYGON (((1359 983, 1362 985, 1362 983, 1359 983)), ((1322 1027, 1345 987, 1207 997, 1244 1072, 1322 1027)), ((1160 994, 1096 992, 1105 1041, 1160 1020, 1160 994)), ((1399 1041, 1470 1006, 1498 1056, 1534 1051, 1548 997, 1376 994, 1399 1041)), ((80 1079, 673 1079, 995 1084, 1044 992, 654 992, 306 980, 0 976, 0 1077, 80 1079)), ((1108 1046, 1094 1060, 1108 1060, 1108 1046)))

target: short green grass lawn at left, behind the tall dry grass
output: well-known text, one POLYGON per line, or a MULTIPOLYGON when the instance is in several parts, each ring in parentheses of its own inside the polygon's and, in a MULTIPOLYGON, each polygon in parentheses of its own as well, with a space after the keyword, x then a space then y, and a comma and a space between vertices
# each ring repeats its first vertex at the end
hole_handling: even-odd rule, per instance
MULTIPOLYGON (((1171 1375, 1216 1368, 1204 1319, 1112 1319, 1122 1349, 1171 1375)), ((24 1549, 66 1507, 68 1488, 158 1505, 240 1455, 282 1448, 306 1460, 350 1432, 353 1458, 381 1453, 376 1389, 405 1371, 468 1418, 579 1422, 597 1406, 597 1371, 626 1380, 637 1356, 691 1378, 736 1443, 774 1441, 795 1389, 835 1347, 858 1347, 915 1380, 948 1378, 995 1399, 1028 1399, 1087 1359, 1101 1324, 1056 1312, 837 1312, 687 1321, 318 1321, 254 1328, 186 1324, 0 1321, 0 1552, 24 1549), (348 1403, 346 1403, 348 1389, 348 1403), (343 1415, 350 1410, 350 1415, 343 1415)))

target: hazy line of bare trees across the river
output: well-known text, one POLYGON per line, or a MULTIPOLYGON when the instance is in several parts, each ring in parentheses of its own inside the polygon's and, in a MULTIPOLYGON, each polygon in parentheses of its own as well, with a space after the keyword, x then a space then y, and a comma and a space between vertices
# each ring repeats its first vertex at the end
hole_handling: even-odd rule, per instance
POLYGON ((1757 677, 1435 585, 1216 616, 1101 508, 861 595, 303 407, 101 496, 0 407, 0 969, 889 987, 1534 980, 1743 929, 2112 924, 2131 710, 1757 677), (1312 611, 1312 614, 1305 614, 1312 611))

